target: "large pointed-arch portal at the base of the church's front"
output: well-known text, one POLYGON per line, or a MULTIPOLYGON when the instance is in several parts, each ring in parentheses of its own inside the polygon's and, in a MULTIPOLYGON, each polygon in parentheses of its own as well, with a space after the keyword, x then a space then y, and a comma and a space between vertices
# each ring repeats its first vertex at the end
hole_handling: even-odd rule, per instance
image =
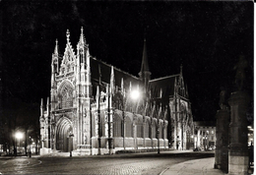
POLYGON ((61 151, 73 150, 73 127, 71 121, 66 118, 60 118, 56 125, 56 149, 61 151))

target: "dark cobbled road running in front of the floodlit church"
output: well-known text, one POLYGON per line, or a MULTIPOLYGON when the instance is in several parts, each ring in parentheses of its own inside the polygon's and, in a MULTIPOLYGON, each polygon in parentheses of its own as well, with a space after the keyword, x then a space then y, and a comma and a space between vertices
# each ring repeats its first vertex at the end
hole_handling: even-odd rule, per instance
POLYGON ((2 174, 160 174, 182 161, 213 157, 205 152, 157 152, 89 157, 16 157, 0 159, 2 174))

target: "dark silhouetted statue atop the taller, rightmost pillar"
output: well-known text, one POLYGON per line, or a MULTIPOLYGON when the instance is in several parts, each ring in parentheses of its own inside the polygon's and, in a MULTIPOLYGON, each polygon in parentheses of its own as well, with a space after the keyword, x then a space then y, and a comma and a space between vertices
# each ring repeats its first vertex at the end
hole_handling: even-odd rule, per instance
POLYGON ((244 69, 247 67, 247 61, 244 59, 244 56, 239 57, 238 63, 234 66, 234 70, 236 70, 235 75, 235 84, 239 90, 243 87, 243 81, 245 79, 244 69))

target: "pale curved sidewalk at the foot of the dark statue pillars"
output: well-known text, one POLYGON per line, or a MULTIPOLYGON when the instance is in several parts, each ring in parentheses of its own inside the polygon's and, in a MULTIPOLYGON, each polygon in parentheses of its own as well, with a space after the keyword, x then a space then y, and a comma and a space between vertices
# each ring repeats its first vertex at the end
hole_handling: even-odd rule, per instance
POLYGON ((224 172, 214 169, 215 157, 184 161, 163 170, 160 175, 220 175, 224 172))

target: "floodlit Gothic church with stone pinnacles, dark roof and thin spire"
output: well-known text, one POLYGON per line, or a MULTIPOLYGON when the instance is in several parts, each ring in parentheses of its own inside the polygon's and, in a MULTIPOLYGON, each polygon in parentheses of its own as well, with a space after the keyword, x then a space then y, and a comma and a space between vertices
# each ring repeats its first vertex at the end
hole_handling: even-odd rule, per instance
POLYGON ((83 28, 75 51, 52 54, 50 97, 40 106, 40 154, 105 154, 193 146, 193 116, 180 73, 151 80, 146 40, 139 77, 90 55, 83 28), (45 110, 46 109, 46 110, 45 110))

